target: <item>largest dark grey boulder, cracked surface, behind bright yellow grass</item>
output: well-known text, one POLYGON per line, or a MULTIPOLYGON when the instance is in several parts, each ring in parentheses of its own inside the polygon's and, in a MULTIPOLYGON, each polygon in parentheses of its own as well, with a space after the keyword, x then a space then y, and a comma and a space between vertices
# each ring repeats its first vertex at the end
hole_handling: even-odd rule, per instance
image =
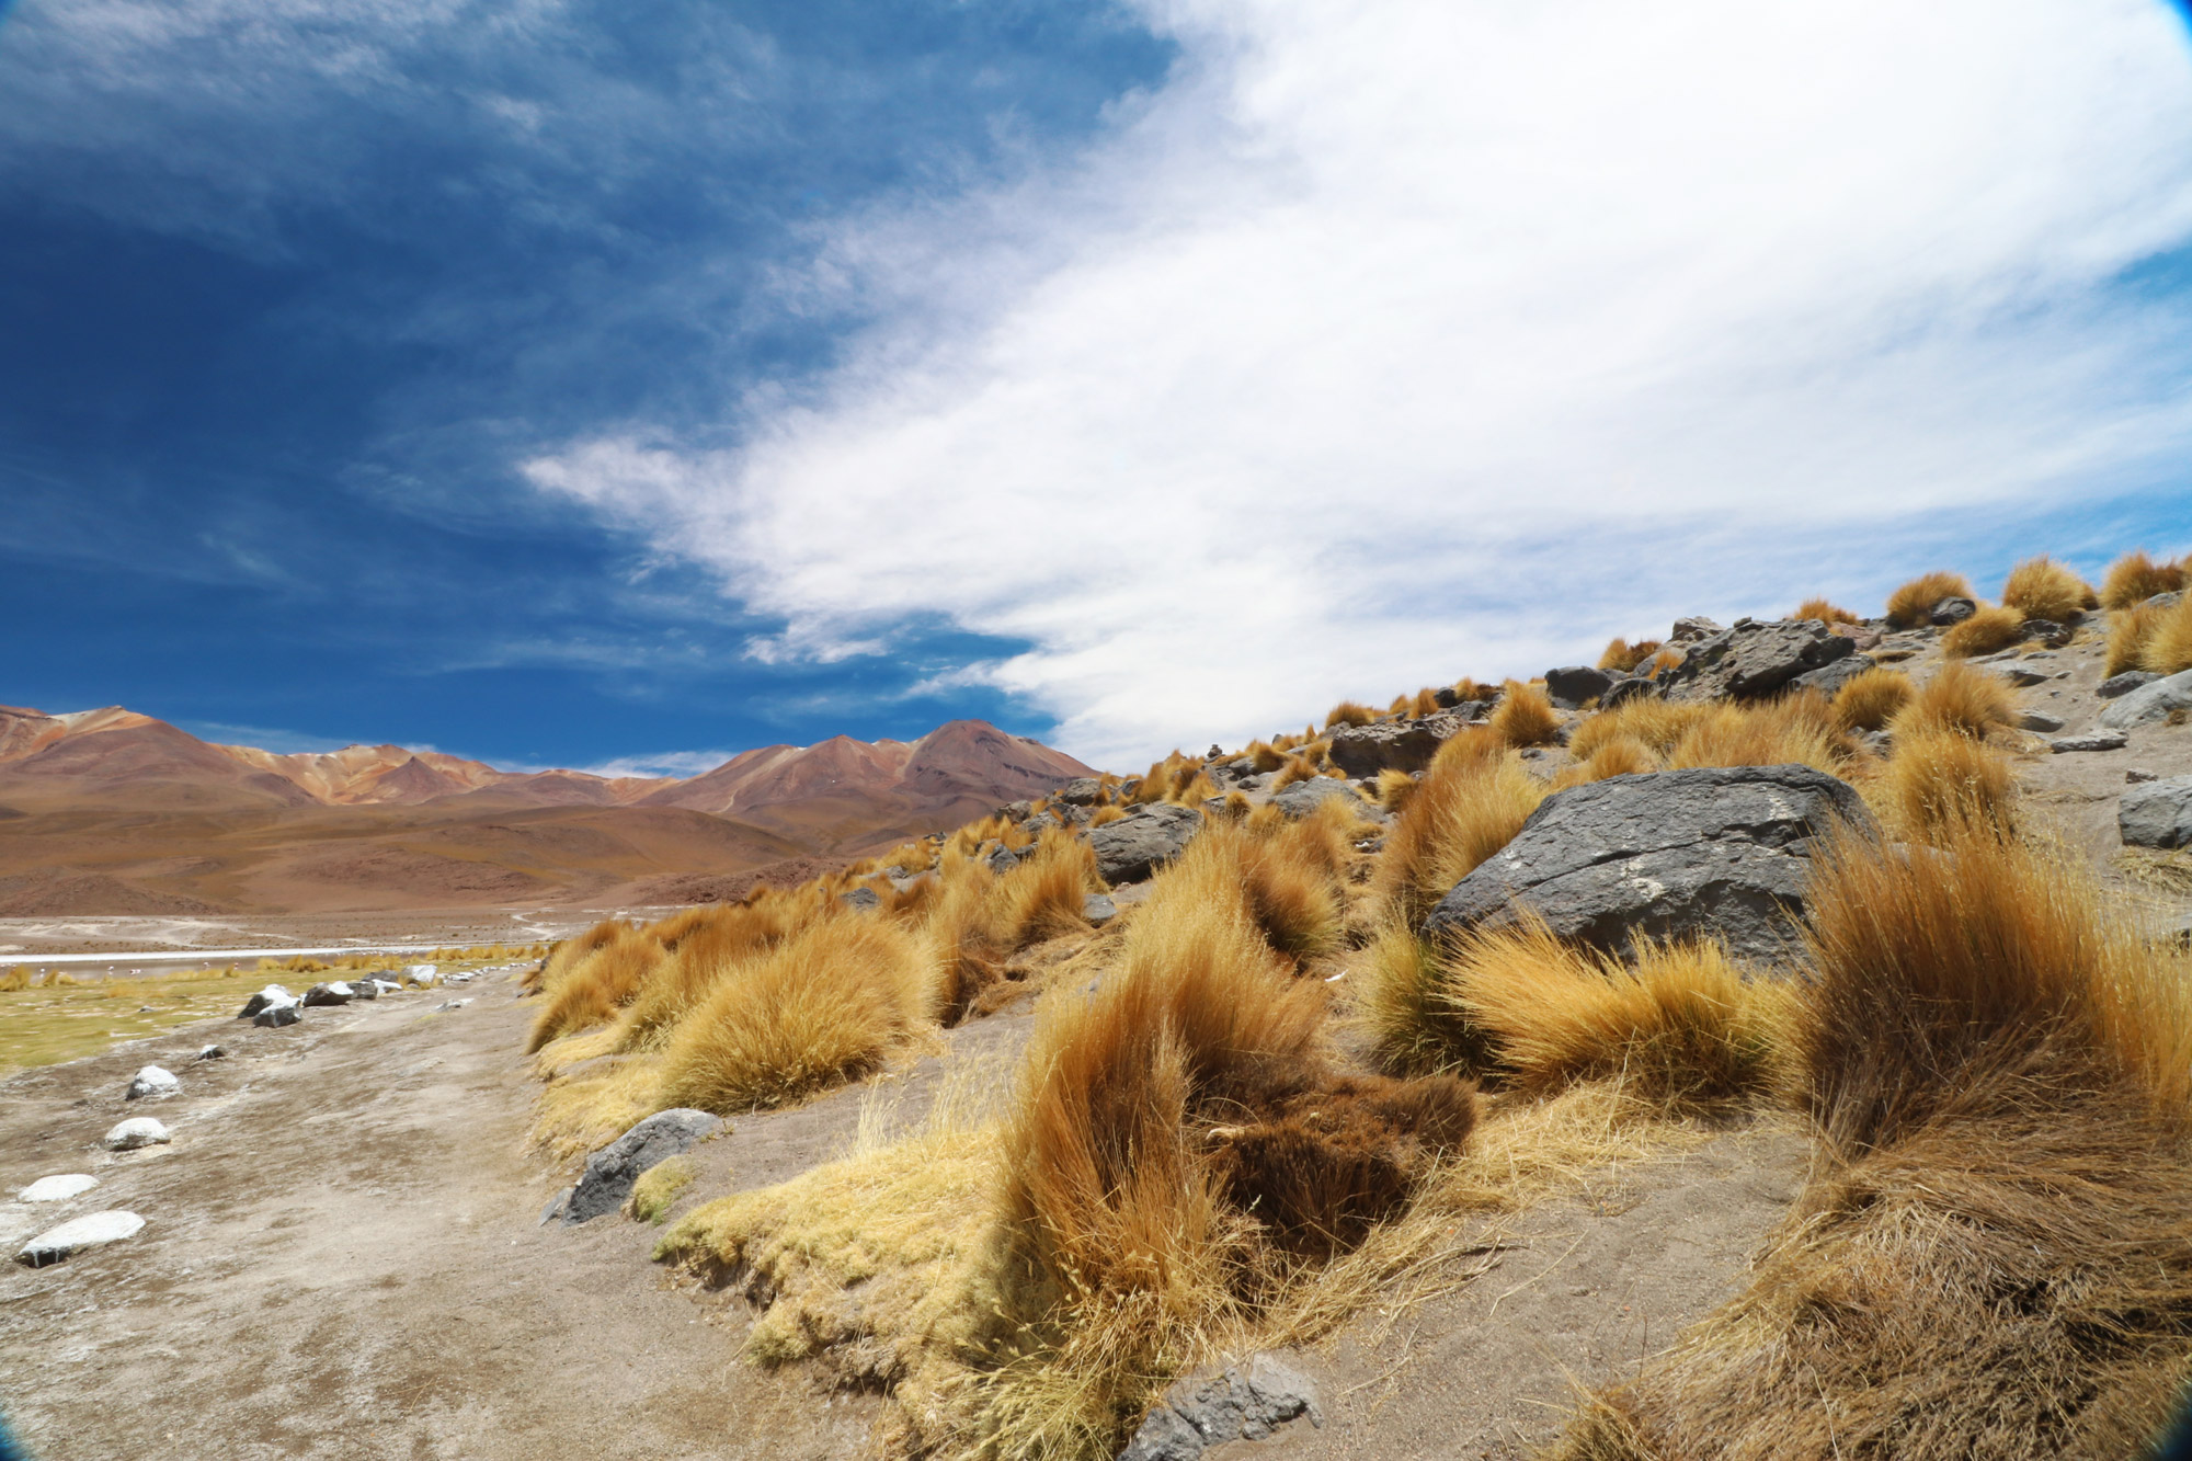
POLYGON ((1506 928, 1530 908, 1563 939, 1618 954, 1637 937, 1716 937, 1740 959, 1784 961, 1813 840, 1837 820, 1874 834, 1857 792, 1808 766, 1609 777, 1548 796, 1423 932, 1506 928))

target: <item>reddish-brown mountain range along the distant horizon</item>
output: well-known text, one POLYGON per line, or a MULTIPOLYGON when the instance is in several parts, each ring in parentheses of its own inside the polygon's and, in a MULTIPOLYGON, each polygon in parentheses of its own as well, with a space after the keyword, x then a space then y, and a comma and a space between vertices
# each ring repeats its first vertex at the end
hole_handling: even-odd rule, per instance
POLYGON ((978 720, 671 779, 401 746, 281 755, 121 706, 0 706, 0 917, 706 902, 1085 774, 978 720))

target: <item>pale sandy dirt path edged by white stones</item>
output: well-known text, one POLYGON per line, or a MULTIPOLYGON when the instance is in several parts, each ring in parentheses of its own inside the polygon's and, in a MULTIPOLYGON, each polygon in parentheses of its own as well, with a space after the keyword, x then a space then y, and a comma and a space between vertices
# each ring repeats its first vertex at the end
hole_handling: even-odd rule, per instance
MULTIPOLYGON (((653 1228, 537 1224, 568 1174, 524 1154, 530 1011, 513 996, 495 981, 316 1009, 287 1031, 197 1027, 0 1084, 0 1191, 101 1178, 72 1202, 0 1202, 9 1253, 90 1211, 147 1220, 55 1268, 0 1268, 0 1404, 31 1452, 859 1452, 868 1402, 824 1404, 739 1364, 723 1325, 743 1314, 673 1288, 647 1261, 653 1228), (204 1040, 230 1057, 193 1064, 204 1040), (125 1103, 147 1062, 184 1095, 125 1103), (134 1114, 162 1119, 173 1145, 105 1156, 99 1136, 134 1114)), ((813 1152, 850 1128, 857 1092, 789 1114, 813 1152)), ((732 1143, 710 1145, 710 1165, 737 1165, 732 1143)))

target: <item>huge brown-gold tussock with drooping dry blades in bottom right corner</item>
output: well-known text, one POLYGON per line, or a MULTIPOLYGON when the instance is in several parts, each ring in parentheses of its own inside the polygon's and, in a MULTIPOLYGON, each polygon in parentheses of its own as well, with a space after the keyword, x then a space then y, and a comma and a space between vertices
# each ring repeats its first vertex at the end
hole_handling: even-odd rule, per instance
POLYGON ((1552 1454, 2150 1454, 2192 1362, 2181 961, 1984 827, 1916 858, 1846 840, 1811 908, 1797 1073, 1828 1160, 1749 1288, 1552 1454))

